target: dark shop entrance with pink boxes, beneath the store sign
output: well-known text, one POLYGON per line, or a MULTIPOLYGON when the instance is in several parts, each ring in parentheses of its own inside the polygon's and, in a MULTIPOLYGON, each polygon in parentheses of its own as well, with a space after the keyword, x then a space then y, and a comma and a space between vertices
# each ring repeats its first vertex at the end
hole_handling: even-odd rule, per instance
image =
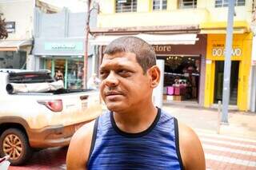
POLYGON ((164 99, 198 102, 200 56, 158 56, 165 60, 164 99))

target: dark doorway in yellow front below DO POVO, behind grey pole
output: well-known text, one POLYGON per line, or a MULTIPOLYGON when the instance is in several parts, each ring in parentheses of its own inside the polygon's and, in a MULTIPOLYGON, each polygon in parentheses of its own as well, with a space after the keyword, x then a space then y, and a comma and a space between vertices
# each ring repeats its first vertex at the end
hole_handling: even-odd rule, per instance
MULTIPOLYGON (((232 61, 230 72, 230 105, 237 105, 238 101, 238 71, 239 61, 232 61)), ((214 103, 222 101, 223 77, 224 61, 215 61, 214 103)))

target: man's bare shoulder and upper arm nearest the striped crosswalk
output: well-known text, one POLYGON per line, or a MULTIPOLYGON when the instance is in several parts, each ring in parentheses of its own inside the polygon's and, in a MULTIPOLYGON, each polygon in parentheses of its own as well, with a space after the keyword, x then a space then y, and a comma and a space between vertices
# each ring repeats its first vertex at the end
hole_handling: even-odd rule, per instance
POLYGON ((205 170, 205 155, 198 136, 191 128, 180 123, 178 123, 178 131, 179 147, 184 168, 186 170, 205 170))

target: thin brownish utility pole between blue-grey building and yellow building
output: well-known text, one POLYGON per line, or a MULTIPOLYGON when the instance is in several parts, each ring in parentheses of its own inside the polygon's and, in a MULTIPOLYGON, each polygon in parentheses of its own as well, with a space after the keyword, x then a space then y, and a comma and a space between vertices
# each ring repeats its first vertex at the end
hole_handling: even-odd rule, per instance
POLYGON ((90 3, 91 3, 91 0, 87 0, 85 53, 84 53, 84 61, 83 61, 83 88, 84 89, 87 89, 88 39, 89 39, 89 33, 90 33, 90 3))

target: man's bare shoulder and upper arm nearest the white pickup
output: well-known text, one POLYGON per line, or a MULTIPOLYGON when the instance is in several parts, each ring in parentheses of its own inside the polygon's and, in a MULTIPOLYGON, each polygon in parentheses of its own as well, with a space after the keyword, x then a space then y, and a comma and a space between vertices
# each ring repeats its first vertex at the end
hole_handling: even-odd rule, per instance
POLYGON ((68 170, 87 169, 86 164, 89 159, 90 144, 94 131, 94 122, 92 121, 74 133, 70 141, 70 146, 66 155, 66 168, 68 170))

